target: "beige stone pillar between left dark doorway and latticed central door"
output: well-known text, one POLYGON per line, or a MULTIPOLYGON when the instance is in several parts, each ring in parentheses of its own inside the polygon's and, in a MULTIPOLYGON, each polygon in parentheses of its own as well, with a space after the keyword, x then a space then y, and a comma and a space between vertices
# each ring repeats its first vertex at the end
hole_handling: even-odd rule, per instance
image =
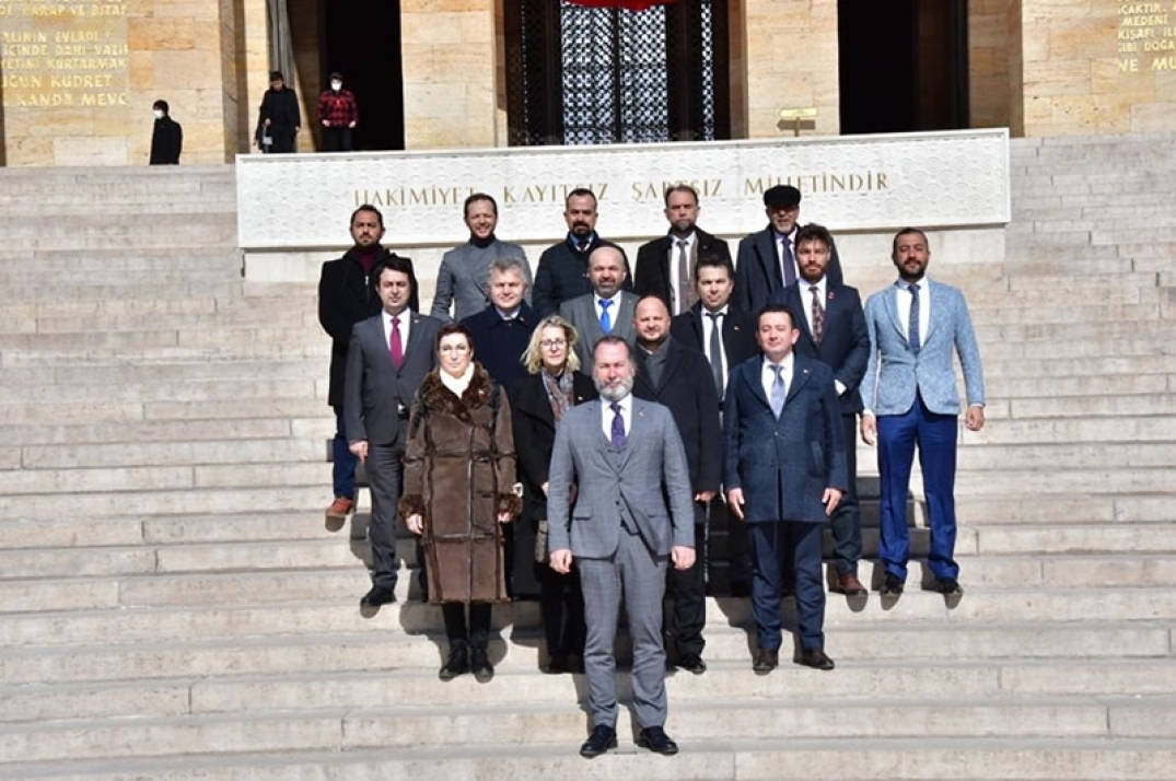
MULTIPOLYGON (((495 0, 402 0, 405 147, 507 143, 495 0)), ((499 26, 500 27, 500 26, 499 26)))

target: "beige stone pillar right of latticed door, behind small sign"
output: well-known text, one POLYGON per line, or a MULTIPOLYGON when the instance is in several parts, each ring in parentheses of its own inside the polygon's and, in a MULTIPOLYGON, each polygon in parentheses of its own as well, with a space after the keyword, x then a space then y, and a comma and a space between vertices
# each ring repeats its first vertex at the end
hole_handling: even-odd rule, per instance
POLYGON ((790 135, 780 109, 815 107, 814 127, 802 135, 836 135, 837 0, 743 0, 737 27, 743 59, 740 69, 733 60, 731 80, 743 79, 747 112, 743 122, 733 116, 733 127, 754 139, 790 135))

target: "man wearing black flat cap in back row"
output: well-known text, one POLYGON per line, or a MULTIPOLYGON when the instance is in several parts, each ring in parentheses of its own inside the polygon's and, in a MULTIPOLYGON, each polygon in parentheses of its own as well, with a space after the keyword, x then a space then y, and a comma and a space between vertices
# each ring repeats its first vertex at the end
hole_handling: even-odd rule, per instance
MULTIPOLYGON (((743 312, 757 313, 783 300, 783 289, 796 281, 796 227, 801 215, 801 191, 776 185, 763 193, 768 227, 739 242, 733 301, 743 312)), ((829 245, 829 285, 843 285, 837 248, 829 245)))

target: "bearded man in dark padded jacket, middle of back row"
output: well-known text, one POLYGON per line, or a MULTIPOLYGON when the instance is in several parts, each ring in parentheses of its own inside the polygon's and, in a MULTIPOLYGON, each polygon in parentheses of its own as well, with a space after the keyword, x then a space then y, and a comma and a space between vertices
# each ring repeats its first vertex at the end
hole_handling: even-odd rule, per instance
MULTIPOLYGON (((563 208, 563 221, 568 225, 567 238, 552 245, 539 256, 535 269, 535 289, 532 306, 535 314, 546 318, 560 309, 560 305, 574 298, 592 293, 588 281, 588 259, 600 247, 613 247, 621 254, 624 271, 623 287, 633 289, 628 281, 629 261, 624 251, 596 233, 596 195, 582 187, 568 193, 563 208)), ((592 347, 589 342, 588 347, 592 347)))

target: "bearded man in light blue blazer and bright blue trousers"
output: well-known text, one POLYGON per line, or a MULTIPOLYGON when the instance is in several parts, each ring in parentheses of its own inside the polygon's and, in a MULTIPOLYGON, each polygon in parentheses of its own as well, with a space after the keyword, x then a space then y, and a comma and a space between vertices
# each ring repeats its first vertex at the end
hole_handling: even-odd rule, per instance
POLYGON ((957 595, 960 566, 955 552, 955 466, 960 392, 953 354, 960 355, 968 399, 964 425, 984 426, 984 378, 980 348, 963 293, 927 279, 927 235, 903 228, 894 238, 891 260, 898 280, 866 301, 870 356, 862 380, 862 439, 878 446, 881 538, 886 566, 883 594, 902 593, 910 538, 907 489, 918 446, 927 494, 931 548, 928 566, 935 590, 957 595))

